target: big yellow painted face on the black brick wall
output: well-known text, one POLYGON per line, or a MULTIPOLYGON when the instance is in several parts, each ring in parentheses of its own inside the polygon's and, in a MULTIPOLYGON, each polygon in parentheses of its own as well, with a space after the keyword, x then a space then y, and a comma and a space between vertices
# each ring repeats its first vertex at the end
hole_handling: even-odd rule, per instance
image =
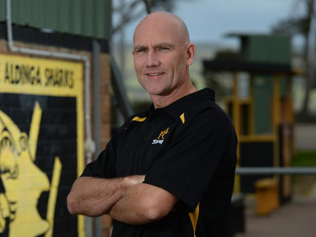
MULTIPOLYGON (((0 169, 10 171, 2 172, 0 176, 5 188, 5 199, 9 203, 5 206, 7 210, 1 210, 1 213, 11 213, 9 236, 43 234, 47 231, 48 223, 39 216, 36 205, 40 194, 50 188, 48 177, 35 165, 27 146, 18 142, 20 137, 27 140, 27 135, 21 133, 18 126, 2 111, 0 123, 7 130, 0 134, 0 140, 6 141, 1 143, 0 169), (27 228, 23 229, 21 226, 25 226, 25 223, 27 228), (30 228, 30 223, 36 227, 30 228)), ((3 198, 0 202, 4 202, 3 198)))

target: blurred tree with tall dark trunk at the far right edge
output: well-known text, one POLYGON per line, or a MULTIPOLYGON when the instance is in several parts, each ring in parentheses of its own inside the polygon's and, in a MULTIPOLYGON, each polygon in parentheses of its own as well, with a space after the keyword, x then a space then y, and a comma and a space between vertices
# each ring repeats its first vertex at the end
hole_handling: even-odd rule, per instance
POLYGON ((301 34, 304 38, 303 60, 305 64, 305 97, 302 110, 298 118, 304 119, 309 116, 308 102, 310 92, 316 88, 316 32, 312 28, 316 24, 316 0, 300 0, 296 3, 303 2, 305 6, 305 14, 300 17, 291 17, 281 20, 276 24, 272 31, 273 33, 286 33, 286 34, 301 34))

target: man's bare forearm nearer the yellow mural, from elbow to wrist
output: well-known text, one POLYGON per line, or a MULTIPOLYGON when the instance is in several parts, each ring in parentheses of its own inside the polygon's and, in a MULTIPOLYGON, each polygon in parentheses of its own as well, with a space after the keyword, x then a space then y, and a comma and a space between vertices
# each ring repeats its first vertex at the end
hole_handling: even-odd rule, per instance
POLYGON ((115 179, 80 177, 74 182, 67 197, 68 210, 71 214, 101 216, 107 213, 130 187, 140 184, 144 178, 144 175, 115 179))

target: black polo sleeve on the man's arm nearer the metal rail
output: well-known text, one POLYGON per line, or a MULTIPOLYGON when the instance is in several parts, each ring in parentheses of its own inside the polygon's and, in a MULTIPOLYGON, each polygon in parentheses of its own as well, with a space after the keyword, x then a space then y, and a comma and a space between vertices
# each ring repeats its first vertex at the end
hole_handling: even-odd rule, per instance
POLYGON ((179 198, 185 211, 193 212, 220 163, 226 162, 229 172, 234 172, 237 140, 231 120, 217 108, 187 120, 144 183, 167 190, 179 198))

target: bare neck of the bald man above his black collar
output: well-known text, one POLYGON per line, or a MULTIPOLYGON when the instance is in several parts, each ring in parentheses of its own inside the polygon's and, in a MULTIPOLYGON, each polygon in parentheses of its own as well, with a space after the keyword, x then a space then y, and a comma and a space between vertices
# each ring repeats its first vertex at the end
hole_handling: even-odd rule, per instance
POLYGON ((191 81, 189 81, 189 83, 183 84, 174 90, 170 95, 151 95, 150 97, 155 108, 162 108, 195 91, 197 91, 197 89, 193 86, 191 81))

